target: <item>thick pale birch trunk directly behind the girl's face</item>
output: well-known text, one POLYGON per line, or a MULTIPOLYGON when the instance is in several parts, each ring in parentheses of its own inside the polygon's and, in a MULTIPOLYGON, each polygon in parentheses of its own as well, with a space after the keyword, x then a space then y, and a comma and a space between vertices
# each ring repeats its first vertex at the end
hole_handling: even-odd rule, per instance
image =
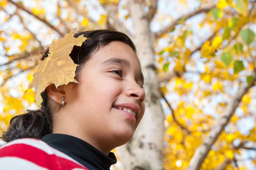
POLYGON ((117 148, 125 170, 163 170, 164 113, 154 66, 154 36, 143 0, 127 2, 135 29, 134 43, 145 77, 145 114, 131 141, 117 148))

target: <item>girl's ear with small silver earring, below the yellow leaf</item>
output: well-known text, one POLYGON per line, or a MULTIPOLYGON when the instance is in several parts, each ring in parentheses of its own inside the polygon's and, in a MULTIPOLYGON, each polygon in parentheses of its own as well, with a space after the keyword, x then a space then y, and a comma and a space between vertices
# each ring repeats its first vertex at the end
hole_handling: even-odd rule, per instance
POLYGON ((53 101, 57 102, 58 104, 61 104, 61 97, 65 96, 65 84, 58 86, 58 89, 56 88, 55 84, 50 84, 46 88, 47 95, 49 98, 51 98, 53 101))

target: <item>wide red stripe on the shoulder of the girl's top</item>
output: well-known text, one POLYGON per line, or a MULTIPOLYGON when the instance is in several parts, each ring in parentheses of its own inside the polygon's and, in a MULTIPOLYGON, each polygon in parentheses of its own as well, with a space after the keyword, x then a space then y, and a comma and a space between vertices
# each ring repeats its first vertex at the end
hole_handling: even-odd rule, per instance
POLYGON ((27 144, 12 144, 8 147, 3 147, 0 149, 0 158, 6 156, 26 159, 27 161, 31 161, 38 166, 50 170, 71 170, 74 168, 89 170, 66 158, 61 158, 55 154, 49 155, 43 150, 29 146, 27 144))

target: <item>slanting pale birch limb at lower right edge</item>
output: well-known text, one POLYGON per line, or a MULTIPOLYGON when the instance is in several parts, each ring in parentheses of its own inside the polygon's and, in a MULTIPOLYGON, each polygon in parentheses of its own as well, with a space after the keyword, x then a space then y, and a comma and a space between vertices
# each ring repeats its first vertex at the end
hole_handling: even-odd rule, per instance
POLYGON ((195 151, 194 156, 189 162, 188 170, 200 170, 201 164, 207 157, 212 145, 215 143, 218 136, 224 130, 225 126, 229 123, 230 118, 233 116, 233 113, 235 112, 241 101, 241 98, 256 82, 256 71, 253 71, 252 76, 253 81, 250 83, 250 85, 248 85, 247 82, 241 84, 239 91, 236 95, 234 95, 234 98, 230 100, 229 104, 227 105, 227 109, 221 116, 220 120, 217 121, 217 124, 212 128, 209 135, 204 139, 203 143, 195 151))

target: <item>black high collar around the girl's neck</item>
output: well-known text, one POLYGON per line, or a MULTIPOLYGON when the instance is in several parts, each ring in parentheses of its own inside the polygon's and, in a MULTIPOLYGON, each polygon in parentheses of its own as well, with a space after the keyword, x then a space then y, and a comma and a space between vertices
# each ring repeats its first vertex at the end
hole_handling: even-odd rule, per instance
POLYGON ((41 140, 90 170, 109 170, 111 165, 116 164, 114 153, 110 152, 106 156, 91 144, 71 135, 52 133, 41 140))

